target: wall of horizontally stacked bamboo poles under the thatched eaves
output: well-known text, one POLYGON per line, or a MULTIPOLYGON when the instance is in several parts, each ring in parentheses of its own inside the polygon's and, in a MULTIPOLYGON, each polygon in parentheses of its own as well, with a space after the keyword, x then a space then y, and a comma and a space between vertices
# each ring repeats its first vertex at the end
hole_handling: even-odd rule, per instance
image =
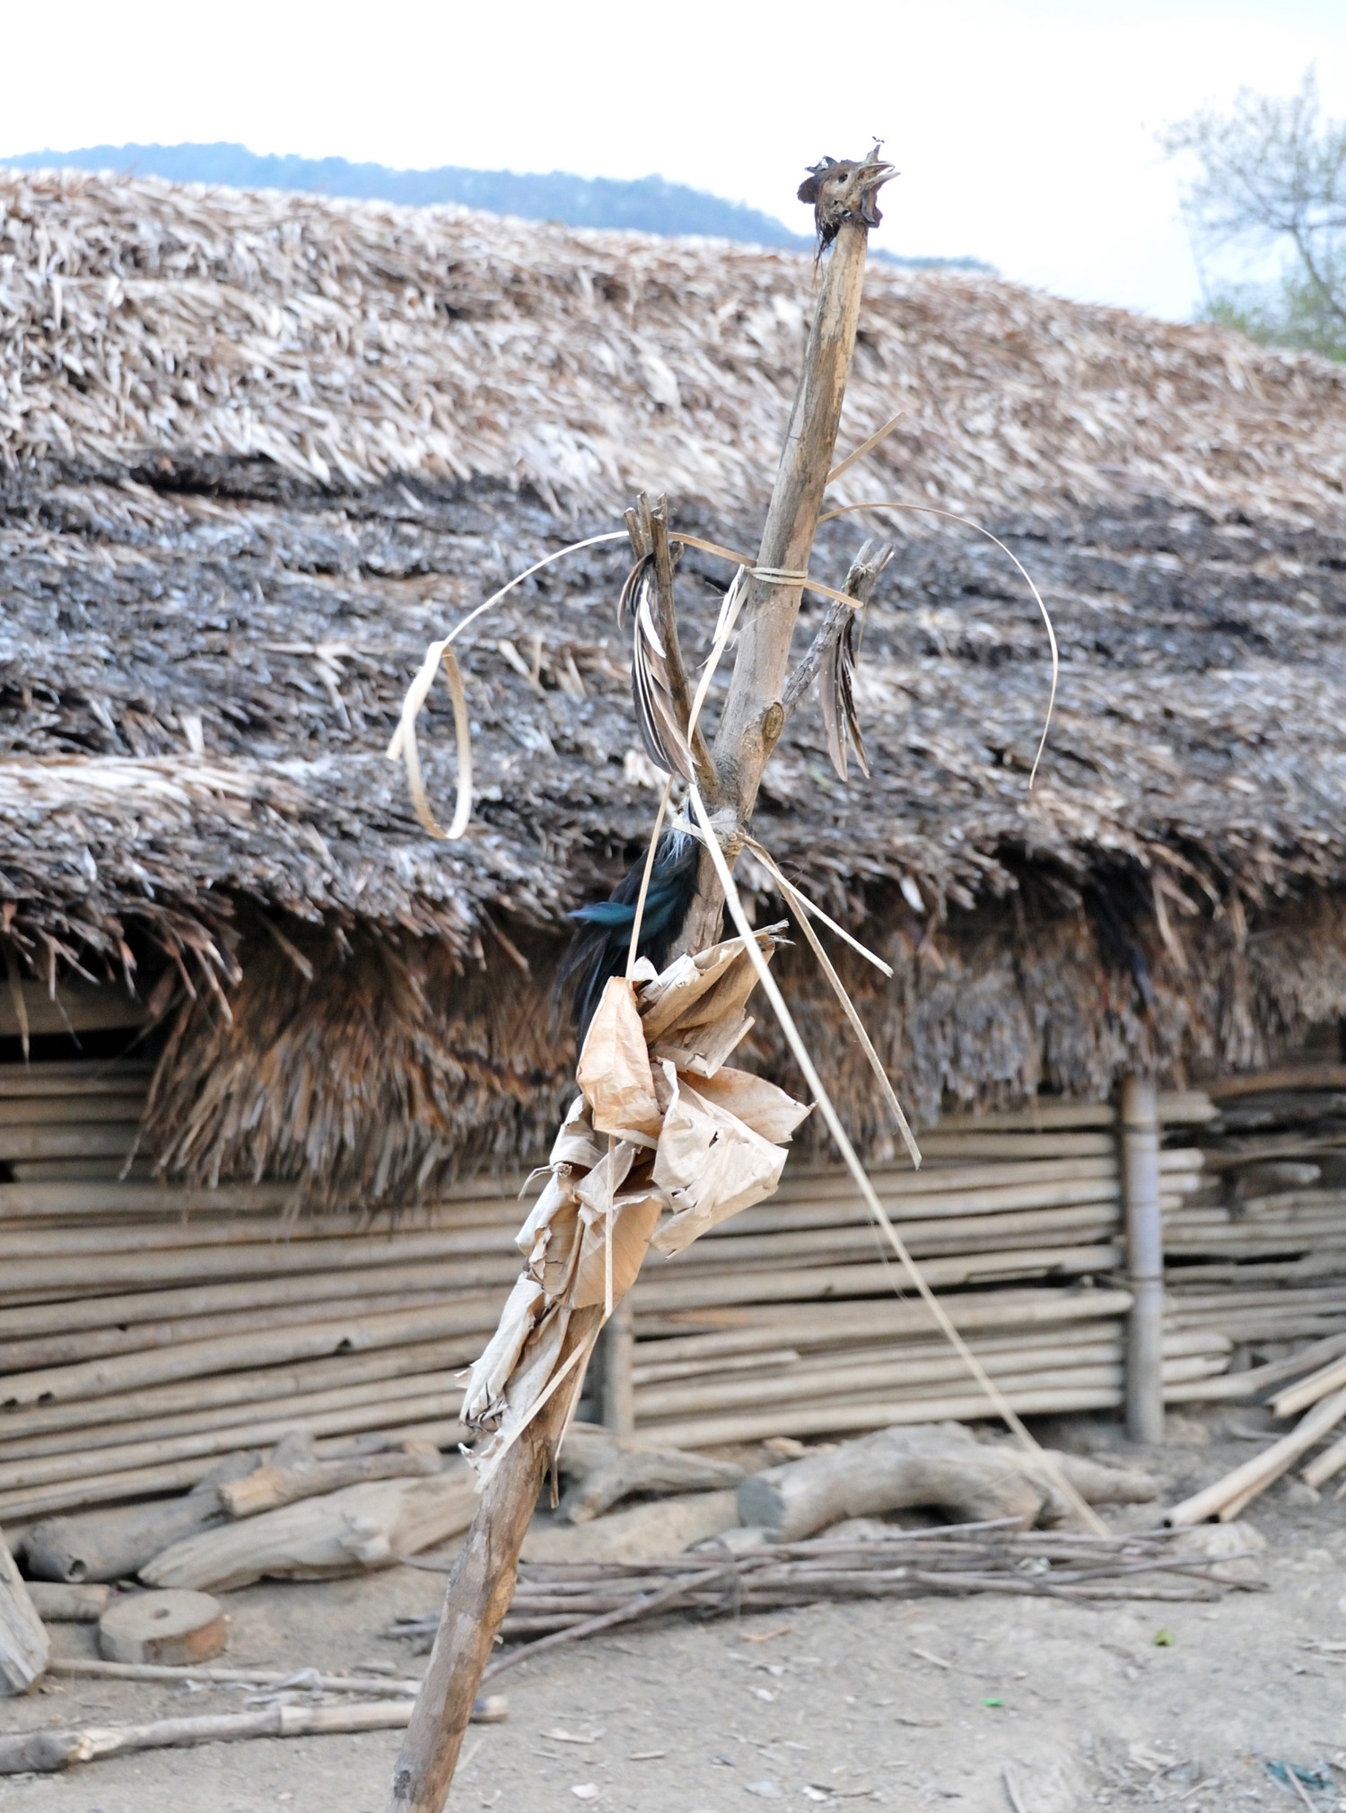
MULTIPOLYGON (((391 1231, 299 1218, 279 1184, 163 1188, 136 1159, 147 1081, 0 1066, 0 1523, 181 1490, 295 1421, 462 1440, 458 1374, 518 1271, 518 1180, 391 1231)), ((1230 1394, 1255 1343, 1346 1327, 1346 1146, 1339 1177, 1322 1100, 1272 1097, 1221 1099, 1223 1119, 1161 1097, 1168 1401, 1230 1394)), ((1009 1401, 1120 1405, 1114 1111, 944 1122, 924 1149, 879 1193, 1009 1401)), ((681 1445, 989 1414, 835 1171, 786 1171, 688 1253, 650 1255, 630 1385, 636 1427, 681 1445)))

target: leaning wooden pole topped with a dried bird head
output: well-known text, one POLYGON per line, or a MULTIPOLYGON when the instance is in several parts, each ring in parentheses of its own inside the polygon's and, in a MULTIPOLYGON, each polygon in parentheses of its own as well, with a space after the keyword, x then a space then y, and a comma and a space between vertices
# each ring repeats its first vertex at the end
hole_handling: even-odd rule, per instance
MULTIPOLYGON (((717 781, 712 800, 714 809, 728 818, 725 848, 730 861, 743 843, 763 767, 784 723, 781 693, 801 598, 801 582, 786 575, 803 575, 813 546, 855 350, 866 221, 877 219, 873 192, 888 174, 889 167, 877 156, 828 163, 826 170, 819 165, 815 172, 812 192, 817 219, 832 241, 832 257, 766 515, 757 560, 766 577, 752 580, 714 747, 717 781)), ((710 858, 703 856, 697 897, 676 948, 701 950, 714 943, 721 908, 710 858)), ((542 1474, 563 1429, 558 1400, 569 1396, 569 1391, 556 1392, 505 1454, 482 1496, 449 1581, 426 1686, 393 1775, 389 1813, 440 1813, 444 1808, 476 1686, 514 1590, 518 1550, 542 1474)))

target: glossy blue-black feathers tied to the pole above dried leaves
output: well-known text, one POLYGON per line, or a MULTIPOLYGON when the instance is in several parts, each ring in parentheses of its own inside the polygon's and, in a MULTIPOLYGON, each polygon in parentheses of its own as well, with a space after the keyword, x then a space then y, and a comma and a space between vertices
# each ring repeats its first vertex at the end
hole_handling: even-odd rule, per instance
MULTIPOLYGON (((685 830, 665 830, 659 838, 639 925, 639 945, 636 946, 636 955, 649 957, 656 970, 663 968, 696 897, 699 856, 701 845, 685 830)), ((643 876, 645 858, 618 881, 605 901, 580 906, 569 916, 578 921, 578 930, 562 959, 562 983, 574 984, 574 1023, 580 1048, 583 1048, 589 1021, 594 1017, 609 977, 625 975, 643 876)))

